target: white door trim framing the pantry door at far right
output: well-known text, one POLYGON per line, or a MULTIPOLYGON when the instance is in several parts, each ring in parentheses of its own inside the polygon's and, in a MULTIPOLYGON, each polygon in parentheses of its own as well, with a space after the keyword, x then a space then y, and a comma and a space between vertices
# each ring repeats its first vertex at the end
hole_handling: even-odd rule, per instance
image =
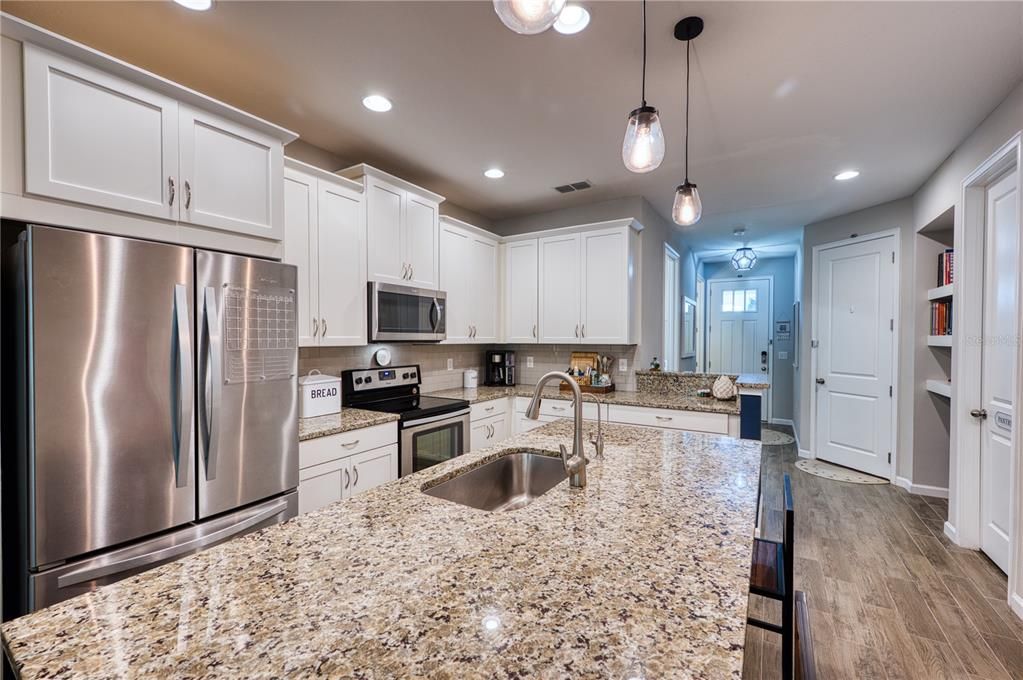
MULTIPOLYGON (((987 186, 1013 168, 1023 170, 1021 158, 1023 133, 1016 133, 1009 141, 988 156, 976 170, 963 180, 962 212, 955 215, 955 298, 960 301, 979 300, 983 294, 985 199, 987 186)), ((1017 173, 1017 182, 1023 184, 1023 172, 1017 173)), ((1018 187, 1023 196, 1023 187, 1018 187)), ((1019 201, 1023 213, 1023 200, 1019 201)), ((1021 214, 1023 224, 1023 214, 1021 214)), ((1020 261, 1023 261, 1023 238, 1020 239, 1020 261)), ((1017 289, 1017 305, 1023 302, 1023 277, 1017 289)), ((1018 314, 1017 337, 1023 336, 1023 314, 1018 314)), ((976 335, 963 332, 964 328, 983 328, 982 306, 952 306, 952 397, 951 397, 951 452, 950 464, 954 471, 949 480, 949 517, 945 535, 965 548, 980 547, 980 442, 981 426, 970 415, 981 400, 980 371, 982 343, 976 335)), ((982 339, 982 338, 981 338, 982 339)), ((1016 403, 1023 403, 1021 396, 1020 366, 1023 347, 1017 343, 1016 370, 1013 376, 1016 403)), ((1023 466, 1020 461, 1019 428, 1013 427, 1011 471, 1012 526, 1009 550, 1009 593, 1007 599, 1013 611, 1023 618, 1023 554, 1020 545, 1020 498, 1023 494, 1023 466)))

